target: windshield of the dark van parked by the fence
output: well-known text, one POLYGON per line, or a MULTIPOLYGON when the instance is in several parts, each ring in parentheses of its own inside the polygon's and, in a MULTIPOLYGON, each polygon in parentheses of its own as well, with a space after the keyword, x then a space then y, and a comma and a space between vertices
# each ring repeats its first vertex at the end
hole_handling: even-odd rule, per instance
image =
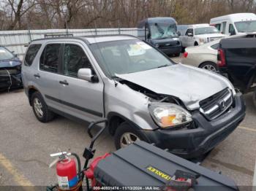
POLYGON ((165 39, 178 36, 176 24, 151 23, 149 26, 151 31, 151 39, 165 39))

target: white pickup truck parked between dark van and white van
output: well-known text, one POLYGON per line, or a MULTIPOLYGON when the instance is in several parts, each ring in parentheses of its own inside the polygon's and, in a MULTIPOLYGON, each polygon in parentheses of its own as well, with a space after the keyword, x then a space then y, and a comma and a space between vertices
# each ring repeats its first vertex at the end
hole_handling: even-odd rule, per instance
POLYGON ((226 36, 209 24, 190 25, 187 26, 187 29, 183 26, 179 32, 181 34, 179 38, 181 39, 182 47, 198 46, 226 36))

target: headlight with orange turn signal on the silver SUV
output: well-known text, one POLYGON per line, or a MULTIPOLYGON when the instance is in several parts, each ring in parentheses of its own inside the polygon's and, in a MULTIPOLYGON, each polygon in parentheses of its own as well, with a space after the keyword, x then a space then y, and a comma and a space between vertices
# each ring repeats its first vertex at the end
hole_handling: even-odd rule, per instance
POLYGON ((176 104, 151 103, 148 111, 161 128, 176 127, 192 121, 192 116, 176 104))

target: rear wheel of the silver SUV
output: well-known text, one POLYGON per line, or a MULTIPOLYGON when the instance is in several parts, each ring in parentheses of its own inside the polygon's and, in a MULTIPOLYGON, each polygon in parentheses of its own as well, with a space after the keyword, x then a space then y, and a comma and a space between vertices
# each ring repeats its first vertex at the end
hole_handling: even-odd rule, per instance
POLYGON ((39 92, 35 92, 31 96, 31 105, 33 108, 34 115, 40 122, 49 122, 53 120, 54 113, 48 109, 47 104, 45 104, 44 98, 39 92))

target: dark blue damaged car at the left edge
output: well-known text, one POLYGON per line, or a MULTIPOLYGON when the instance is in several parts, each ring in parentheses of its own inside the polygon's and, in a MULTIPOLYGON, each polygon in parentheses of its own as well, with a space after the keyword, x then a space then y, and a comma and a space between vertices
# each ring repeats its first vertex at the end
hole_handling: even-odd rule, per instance
POLYGON ((21 62, 17 55, 0 47, 0 90, 21 87, 21 62))

